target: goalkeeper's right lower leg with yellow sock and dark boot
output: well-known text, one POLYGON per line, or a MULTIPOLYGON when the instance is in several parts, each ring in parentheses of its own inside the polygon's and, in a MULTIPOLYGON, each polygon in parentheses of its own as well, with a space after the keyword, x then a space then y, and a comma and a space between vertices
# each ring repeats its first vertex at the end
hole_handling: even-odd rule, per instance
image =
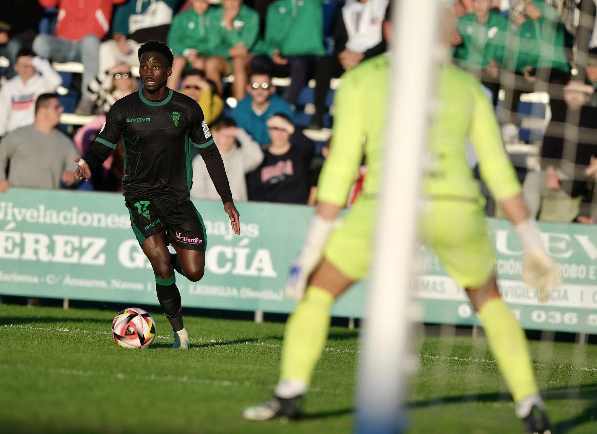
POLYGON ((528 432, 547 433, 551 428, 533 374, 527 337, 501 299, 496 277, 492 275, 487 283, 466 292, 483 322, 491 352, 512 393, 516 415, 528 432))

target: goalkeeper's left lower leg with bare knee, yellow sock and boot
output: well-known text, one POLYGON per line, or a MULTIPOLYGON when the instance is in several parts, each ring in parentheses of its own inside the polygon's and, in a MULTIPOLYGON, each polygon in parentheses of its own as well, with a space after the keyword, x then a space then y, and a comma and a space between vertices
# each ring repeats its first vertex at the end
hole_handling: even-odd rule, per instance
POLYGON ((309 279, 303 299, 286 323, 281 375, 275 397, 245 409, 245 419, 298 416, 298 401, 307 392, 315 365, 325 348, 331 307, 352 284, 353 280, 323 259, 309 279))

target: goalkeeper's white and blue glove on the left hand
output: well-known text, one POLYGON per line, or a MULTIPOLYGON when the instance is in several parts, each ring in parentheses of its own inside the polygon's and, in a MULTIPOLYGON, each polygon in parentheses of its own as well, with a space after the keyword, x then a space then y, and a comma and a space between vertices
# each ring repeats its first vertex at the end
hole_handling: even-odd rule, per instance
POLYGON ((307 239, 303 249, 294 260, 286 281, 285 293, 290 299, 300 300, 303 298, 304 290, 307 287, 307 280, 315 267, 321 261, 324 252, 325 242, 334 228, 334 221, 322 218, 319 215, 313 217, 307 239))

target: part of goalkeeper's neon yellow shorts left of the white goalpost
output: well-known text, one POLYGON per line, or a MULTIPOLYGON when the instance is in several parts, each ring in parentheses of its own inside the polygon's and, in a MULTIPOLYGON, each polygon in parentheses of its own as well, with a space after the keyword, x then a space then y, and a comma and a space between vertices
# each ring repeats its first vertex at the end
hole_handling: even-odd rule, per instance
POLYGON ((349 279, 368 275, 376 207, 376 200, 359 197, 325 245, 325 259, 349 279))

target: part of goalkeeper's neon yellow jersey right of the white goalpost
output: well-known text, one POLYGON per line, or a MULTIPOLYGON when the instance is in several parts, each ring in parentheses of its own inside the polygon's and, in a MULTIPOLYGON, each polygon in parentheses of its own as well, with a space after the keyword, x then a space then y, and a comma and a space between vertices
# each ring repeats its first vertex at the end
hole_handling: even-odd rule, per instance
POLYGON ((521 185, 504 150, 494 108, 479 80, 456 66, 444 66, 438 72, 436 95, 439 107, 429 132, 423 193, 432 199, 481 198, 466 158, 470 142, 494 199, 519 194, 521 185))

